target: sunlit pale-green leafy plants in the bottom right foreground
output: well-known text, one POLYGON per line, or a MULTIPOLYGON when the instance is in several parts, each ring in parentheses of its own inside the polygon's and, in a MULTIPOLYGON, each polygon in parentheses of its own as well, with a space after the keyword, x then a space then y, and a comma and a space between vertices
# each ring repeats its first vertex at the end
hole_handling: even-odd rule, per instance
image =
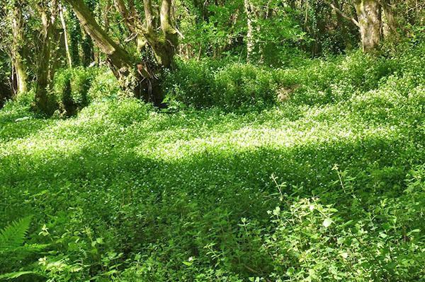
MULTIPOLYGON (((347 171, 336 170, 344 194, 356 199, 347 171), (348 182, 346 182, 348 179, 348 182)), ((424 167, 409 173, 400 198, 382 196, 373 206, 357 206, 351 219, 344 208, 317 196, 282 194, 268 211, 273 227, 263 248, 273 259, 276 281, 404 281, 424 274, 424 167), (422 270, 421 270, 422 269, 422 270), (388 280, 389 279, 389 280, 388 280)), ((349 208, 349 207, 347 207, 349 208)), ((349 214, 349 213, 348 213, 349 214)))

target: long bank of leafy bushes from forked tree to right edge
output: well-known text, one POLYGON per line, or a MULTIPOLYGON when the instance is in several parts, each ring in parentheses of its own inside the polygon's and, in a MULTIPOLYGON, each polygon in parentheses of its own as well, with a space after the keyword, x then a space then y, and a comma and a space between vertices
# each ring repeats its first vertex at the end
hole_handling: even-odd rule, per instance
MULTIPOLYGON (((353 52, 344 57, 310 59, 289 69, 266 69, 250 64, 189 60, 166 76, 167 100, 194 107, 271 105, 279 93, 288 93, 295 104, 318 105, 347 101, 390 83, 408 92, 423 83, 425 67, 416 47, 397 57, 372 57, 353 52), (401 77, 401 76, 402 77, 401 77), (388 81, 388 82, 387 82, 388 81), (409 83, 406 85, 405 83, 409 83)), ((399 54, 399 53, 397 53, 399 54)))

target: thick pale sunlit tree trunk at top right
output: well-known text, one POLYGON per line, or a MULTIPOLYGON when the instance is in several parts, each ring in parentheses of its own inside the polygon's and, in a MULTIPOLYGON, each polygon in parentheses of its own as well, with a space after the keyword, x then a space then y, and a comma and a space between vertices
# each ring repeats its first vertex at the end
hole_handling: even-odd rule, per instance
POLYGON ((360 25, 363 52, 371 52, 380 44, 381 6, 379 0, 355 0, 355 7, 360 25))

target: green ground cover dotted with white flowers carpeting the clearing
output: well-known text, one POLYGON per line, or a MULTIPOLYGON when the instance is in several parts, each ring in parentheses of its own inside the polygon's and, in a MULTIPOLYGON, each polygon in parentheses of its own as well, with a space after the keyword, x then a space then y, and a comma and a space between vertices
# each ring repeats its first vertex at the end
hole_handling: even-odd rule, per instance
POLYGON ((419 281, 421 89, 232 113, 6 105, 0 226, 33 215, 28 243, 50 247, 28 261, 71 281, 419 281))

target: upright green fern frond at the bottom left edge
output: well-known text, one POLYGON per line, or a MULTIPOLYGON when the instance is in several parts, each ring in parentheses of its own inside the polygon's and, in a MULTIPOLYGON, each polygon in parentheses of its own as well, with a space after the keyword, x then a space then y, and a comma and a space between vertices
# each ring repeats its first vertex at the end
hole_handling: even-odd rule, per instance
POLYGON ((0 230, 0 254, 13 251, 13 249, 23 245, 30 223, 31 216, 26 216, 19 221, 13 221, 3 230, 0 230))

